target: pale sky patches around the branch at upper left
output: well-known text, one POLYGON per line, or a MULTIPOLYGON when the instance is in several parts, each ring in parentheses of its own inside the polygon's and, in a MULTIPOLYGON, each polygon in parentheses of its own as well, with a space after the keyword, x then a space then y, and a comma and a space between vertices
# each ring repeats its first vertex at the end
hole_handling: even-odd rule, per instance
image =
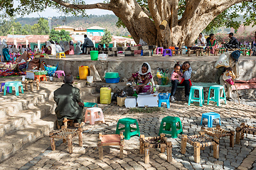
MULTIPOLYGON (((99 2, 103 2, 102 0, 85 0, 86 4, 96 4, 99 2)), ((14 1, 14 6, 18 5, 18 1, 14 1)), ((105 15, 105 14, 114 14, 112 11, 108 10, 103 10, 103 9, 88 9, 86 11, 87 15, 105 15)), ((57 10, 53 10, 52 8, 46 8, 45 11, 41 13, 31 13, 29 15, 23 16, 23 17, 43 17, 43 18, 48 18, 48 17, 53 17, 53 16, 64 16, 63 13, 58 13, 57 10)))

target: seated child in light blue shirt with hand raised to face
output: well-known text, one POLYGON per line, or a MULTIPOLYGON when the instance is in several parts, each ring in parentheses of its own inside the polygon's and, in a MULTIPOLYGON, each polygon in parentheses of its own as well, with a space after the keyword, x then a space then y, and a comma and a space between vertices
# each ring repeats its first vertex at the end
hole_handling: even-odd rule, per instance
POLYGON ((177 86, 185 86, 185 98, 186 101, 188 101, 188 97, 189 97, 189 91, 190 88, 192 86, 191 83, 191 73, 192 73, 192 69, 190 67, 190 63, 189 62, 183 62, 183 64, 181 65, 181 73, 183 73, 183 79, 181 80, 181 83, 178 83, 178 79, 176 80, 172 80, 171 81, 171 102, 175 101, 175 93, 176 93, 176 89, 177 86))

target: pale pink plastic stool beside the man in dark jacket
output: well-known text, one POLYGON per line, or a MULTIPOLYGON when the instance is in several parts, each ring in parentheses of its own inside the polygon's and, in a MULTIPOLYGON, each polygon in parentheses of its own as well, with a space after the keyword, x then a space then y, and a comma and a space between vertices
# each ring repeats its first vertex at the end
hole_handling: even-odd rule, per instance
POLYGON ((105 123, 104 115, 101 108, 87 108, 85 112, 85 123, 90 121, 90 125, 94 125, 95 121, 102 121, 105 123), (98 114, 100 112, 100 115, 98 114), (88 116, 90 113, 90 116, 88 116))

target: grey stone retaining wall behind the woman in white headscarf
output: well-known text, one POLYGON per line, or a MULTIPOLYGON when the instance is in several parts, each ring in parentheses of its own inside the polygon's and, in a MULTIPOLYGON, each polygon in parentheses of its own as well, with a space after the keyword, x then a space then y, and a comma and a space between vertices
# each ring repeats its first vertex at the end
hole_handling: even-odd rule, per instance
MULTIPOLYGON (((97 71, 104 80, 105 72, 119 72, 120 81, 127 81, 132 73, 139 71, 143 62, 147 62, 142 59, 136 61, 91 61, 91 60, 55 60, 55 59, 43 59, 46 64, 56 65, 58 63, 58 69, 64 70, 66 74, 73 74, 78 76, 78 67, 82 65, 95 64, 97 71)), ((213 67, 215 61, 189 61, 191 62, 191 68, 193 69, 191 79, 193 82, 214 82, 216 69, 213 67)), ((176 61, 161 62, 149 61, 151 66, 151 73, 154 79, 156 79, 157 68, 164 68, 172 70, 176 61)), ((242 60, 239 62, 240 80, 249 80, 256 77, 256 61, 255 60, 242 60)))

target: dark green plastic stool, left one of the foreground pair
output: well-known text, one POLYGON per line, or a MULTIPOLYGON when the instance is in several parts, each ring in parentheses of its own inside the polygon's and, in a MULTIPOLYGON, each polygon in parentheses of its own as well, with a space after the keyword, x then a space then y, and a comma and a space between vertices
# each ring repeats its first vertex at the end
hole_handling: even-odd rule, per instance
POLYGON ((119 119, 118 123, 117 123, 116 134, 119 134, 120 130, 124 130, 124 139, 125 140, 129 140, 134 135, 139 135, 140 136, 139 124, 137 123, 137 120, 133 119, 133 118, 119 119), (123 124, 124 128, 119 128, 119 123, 123 124), (134 124, 134 123, 136 123, 137 128, 132 128, 130 126, 131 124, 134 124), (131 132, 131 130, 135 130, 135 131, 131 132))

